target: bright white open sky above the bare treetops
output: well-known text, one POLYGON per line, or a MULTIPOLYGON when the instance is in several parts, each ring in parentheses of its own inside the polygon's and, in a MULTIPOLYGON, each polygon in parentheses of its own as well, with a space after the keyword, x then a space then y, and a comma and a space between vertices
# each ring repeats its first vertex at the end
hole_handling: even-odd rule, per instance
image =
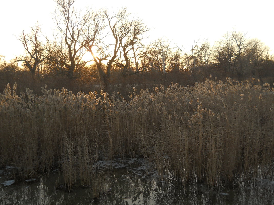
MULTIPOLYGON (((114 10, 127 7, 128 12, 152 28, 147 42, 166 37, 173 46, 189 51, 195 40, 208 39, 213 44, 234 28, 237 32, 247 33, 247 37, 261 40, 274 50, 274 15, 270 0, 76 0, 75 7, 85 10, 87 5, 114 10)), ((52 28, 55 28, 51 18, 55 16, 55 9, 53 0, 1 1, 0 55, 10 60, 23 54, 23 46, 16 36, 23 29, 28 32, 37 20, 42 24, 42 32, 50 36, 52 28)))

